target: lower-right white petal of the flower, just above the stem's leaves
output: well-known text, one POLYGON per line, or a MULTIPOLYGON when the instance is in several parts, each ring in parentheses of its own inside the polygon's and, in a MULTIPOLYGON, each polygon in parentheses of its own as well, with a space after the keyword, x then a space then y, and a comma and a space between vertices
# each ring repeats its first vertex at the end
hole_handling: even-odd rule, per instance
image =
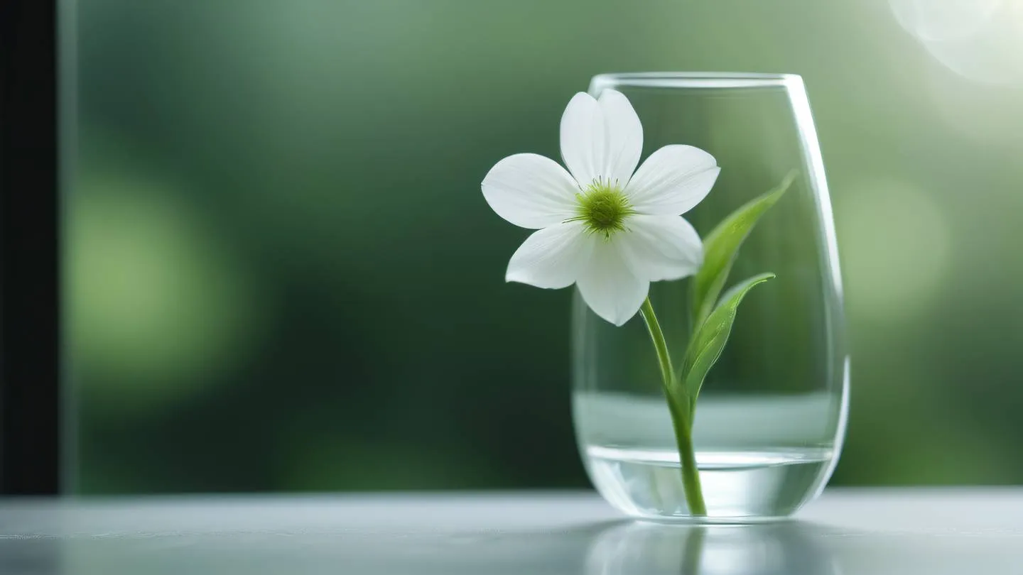
POLYGON ((678 279, 703 265, 700 235, 681 217, 637 214, 627 226, 628 231, 615 240, 621 241, 625 263, 640 279, 678 279))

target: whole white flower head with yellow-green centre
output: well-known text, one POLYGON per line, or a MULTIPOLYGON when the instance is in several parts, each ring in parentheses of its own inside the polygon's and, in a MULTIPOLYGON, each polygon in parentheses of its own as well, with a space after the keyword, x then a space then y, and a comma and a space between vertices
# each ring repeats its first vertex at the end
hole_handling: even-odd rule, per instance
POLYGON ((497 215, 538 230, 511 256, 505 279, 551 289, 577 283, 590 309, 621 325, 639 310, 651 281, 700 269, 700 236, 679 215, 707 196, 720 168, 700 148, 666 145, 636 170, 642 126, 615 90, 599 100, 576 94, 561 132, 568 171, 517 153, 483 179, 497 215))

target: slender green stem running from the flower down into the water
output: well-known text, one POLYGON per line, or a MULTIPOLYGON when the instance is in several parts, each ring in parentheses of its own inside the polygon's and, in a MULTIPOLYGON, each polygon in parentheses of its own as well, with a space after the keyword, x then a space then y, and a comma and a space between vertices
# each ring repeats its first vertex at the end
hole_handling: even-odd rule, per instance
POLYGON ((684 397, 676 398, 672 393, 672 385, 675 380, 675 371, 671 365, 671 356, 668 354, 668 344, 664 341, 664 331, 657 321, 654 313, 654 306, 647 298, 639 308, 642 318, 647 322, 647 329, 650 331, 650 339, 654 342, 654 349, 657 351, 657 360, 661 366, 661 377, 664 380, 664 395, 668 400, 668 410, 671 412, 671 424, 675 429, 675 440, 678 442, 678 458, 681 463, 682 488, 685 491, 685 502, 690 506, 690 513, 695 516, 706 516, 707 504, 703 498, 703 488, 700 486, 700 471, 697 469, 696 453, 693 450, 693 428, 690 417, 688 400, 684 397))

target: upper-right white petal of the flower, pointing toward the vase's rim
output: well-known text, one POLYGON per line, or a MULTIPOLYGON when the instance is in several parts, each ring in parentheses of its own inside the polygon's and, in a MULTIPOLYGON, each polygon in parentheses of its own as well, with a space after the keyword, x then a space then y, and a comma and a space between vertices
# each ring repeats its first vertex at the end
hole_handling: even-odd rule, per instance
POLYGON ((707 196, 720 171, 714 157, 699 147, 666 145, 639 166, 625 194, 640 214, 677 216, 707 196))

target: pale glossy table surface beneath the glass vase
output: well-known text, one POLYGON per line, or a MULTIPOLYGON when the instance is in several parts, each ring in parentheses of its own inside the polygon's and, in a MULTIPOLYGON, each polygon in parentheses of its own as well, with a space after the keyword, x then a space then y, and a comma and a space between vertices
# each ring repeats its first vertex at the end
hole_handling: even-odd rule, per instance
POLYGON ((1023 488, 829 490, 678 527, 585 492, 0 500, 0 574, 1023 575, 1023 488))

